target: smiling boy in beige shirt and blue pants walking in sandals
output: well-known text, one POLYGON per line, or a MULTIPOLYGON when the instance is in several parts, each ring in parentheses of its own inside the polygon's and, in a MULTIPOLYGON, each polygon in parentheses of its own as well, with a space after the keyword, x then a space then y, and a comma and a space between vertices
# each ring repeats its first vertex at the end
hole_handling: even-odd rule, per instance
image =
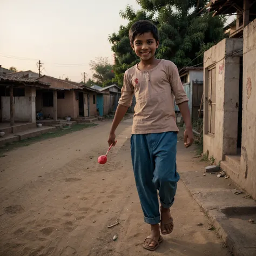
POLYGON ((151 225, 151 234, 143 247, 154 251, 163 241, 161 234, 170 234, 173 219, 170 207, 176 194, 179 174, 176 171, 178 127, 174 100, 186 124, 185 147, 193 143, 188 98, 179 72, 172 62, 156 59, 158 30, 149 21, 138 21, 129 31, 130 44, 140 62, 124 74, 122 95, 111 126, 108 143, 115 144, 114 132, 136 97, 131 136, 131 155, 136 186, 144 220, 151 225), (160 198, 160 214, 157 197, 160 198), (159 230, 160 223, 160 230, 159 230))

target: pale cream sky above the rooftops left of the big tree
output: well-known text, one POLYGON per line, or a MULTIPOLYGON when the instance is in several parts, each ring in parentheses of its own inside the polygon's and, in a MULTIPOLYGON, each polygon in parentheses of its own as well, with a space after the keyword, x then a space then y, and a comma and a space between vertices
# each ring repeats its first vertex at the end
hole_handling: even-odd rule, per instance
POLYGON ((136 0, 0 0, 0 64, 38 72, 40 59, 43 75, 89 78, 90 60, 113 64, 107 38, 127 23, 119 16, 127 4, 139 9, 136 0))

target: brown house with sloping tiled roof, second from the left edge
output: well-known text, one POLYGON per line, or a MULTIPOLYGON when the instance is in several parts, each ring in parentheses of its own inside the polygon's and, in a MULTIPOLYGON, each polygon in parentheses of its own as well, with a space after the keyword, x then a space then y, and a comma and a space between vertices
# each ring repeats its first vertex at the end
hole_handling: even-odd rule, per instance
POLYGON ((49 83, 52 90, 37 90, 36 111, 54 120, 97 116, 97 95, 103 92, 68 80, 42 76, 37 80, 49 83))

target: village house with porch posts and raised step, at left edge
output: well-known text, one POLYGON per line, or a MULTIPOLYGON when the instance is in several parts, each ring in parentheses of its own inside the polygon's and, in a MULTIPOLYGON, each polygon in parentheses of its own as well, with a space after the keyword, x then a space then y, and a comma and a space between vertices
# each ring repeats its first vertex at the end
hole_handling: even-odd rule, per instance
POLYGON ((37 80, 0 75, 0 146, 55 129, 36 124, 36 90, 49 87, 37 80))

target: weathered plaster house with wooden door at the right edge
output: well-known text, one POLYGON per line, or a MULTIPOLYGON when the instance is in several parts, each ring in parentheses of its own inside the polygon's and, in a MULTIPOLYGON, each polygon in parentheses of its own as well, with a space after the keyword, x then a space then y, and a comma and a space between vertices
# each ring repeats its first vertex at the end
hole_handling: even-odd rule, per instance
POLYGON ((256 3, 215 0, 207 8, 237 20, 204 53, 204 153, 256 199, 256 3))

